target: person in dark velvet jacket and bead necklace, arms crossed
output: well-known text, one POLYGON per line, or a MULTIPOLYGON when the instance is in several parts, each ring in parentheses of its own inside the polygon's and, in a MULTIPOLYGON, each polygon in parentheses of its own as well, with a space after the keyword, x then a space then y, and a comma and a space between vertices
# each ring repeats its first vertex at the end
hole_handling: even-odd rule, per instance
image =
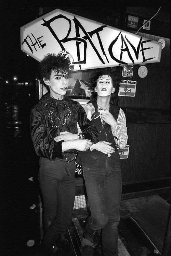
POLYGON ((49 92, 32 108, 30 115, 31 138, 40 156, 44 248, 54 255, 59 250, 61 234, 71 222, 76 153, 88 150, 92 143, 98 141, 98 132, 85 110, 65 95, 71 64, 71 56, 66 51, 43 58, 40 77, 49 92), (81 128, 81 134, 77 127, 81 128))

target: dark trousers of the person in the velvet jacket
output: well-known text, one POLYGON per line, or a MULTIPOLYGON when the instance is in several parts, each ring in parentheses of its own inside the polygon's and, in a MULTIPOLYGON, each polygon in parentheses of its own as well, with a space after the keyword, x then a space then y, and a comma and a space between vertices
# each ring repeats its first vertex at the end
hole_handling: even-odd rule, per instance
POLYGON ((39 181, 44 205, 45 244, 49 247, 58 240, 71 222, 75 200, 75 161, 40 158, 39 181))

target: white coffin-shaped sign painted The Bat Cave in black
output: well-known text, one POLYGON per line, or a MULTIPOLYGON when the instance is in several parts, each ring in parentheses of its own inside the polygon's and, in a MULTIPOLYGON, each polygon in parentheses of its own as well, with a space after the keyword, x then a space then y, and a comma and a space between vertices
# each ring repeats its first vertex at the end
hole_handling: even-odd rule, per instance
POLYGON ((160 42, 59 9, 21 27, 21 50, 41 61, 66 50, 74 70, 160 62, 160 42))

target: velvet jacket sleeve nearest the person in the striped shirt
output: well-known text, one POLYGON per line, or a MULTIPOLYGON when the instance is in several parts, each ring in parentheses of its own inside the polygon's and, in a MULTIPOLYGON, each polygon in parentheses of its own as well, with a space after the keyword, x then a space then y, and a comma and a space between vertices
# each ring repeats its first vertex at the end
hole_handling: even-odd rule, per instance
POLYGON ((84 135, 85 139, 91 140, 92 143, 97 143, 99 140, 96 127, 87 118, 86 112, 83 107, 80 104, 78 107, 78 125, 82 131, 82 134, 84 135))

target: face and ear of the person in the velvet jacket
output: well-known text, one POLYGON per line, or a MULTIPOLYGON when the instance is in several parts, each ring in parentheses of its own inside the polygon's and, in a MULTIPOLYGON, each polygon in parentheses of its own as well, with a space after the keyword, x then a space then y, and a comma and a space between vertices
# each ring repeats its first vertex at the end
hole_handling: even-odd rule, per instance
POLYGON ((68 73, 62 70, 56 73, 52 70, 50 79, 44 82, 49 86, 50 96, 62 100, 68 88, 68 73))

